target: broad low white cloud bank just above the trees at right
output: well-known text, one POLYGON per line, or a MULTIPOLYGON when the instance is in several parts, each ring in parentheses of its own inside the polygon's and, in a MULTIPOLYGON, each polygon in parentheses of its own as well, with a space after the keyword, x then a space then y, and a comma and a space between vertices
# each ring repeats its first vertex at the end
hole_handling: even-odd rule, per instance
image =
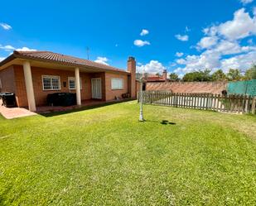
POLYGON ((256 47, 239 46, 239 44, 229 41, 221 41, 215 49, 205 50, 200 55, 187 55, 186 58, 176 60, 179 66, 175 72, 186 74, 187 72, 198 71, 200 69, 223 69, 227 72, 230 68, 249 69, 256 62, 256 47), (224 55, 234 55, 223 58, 224 55))

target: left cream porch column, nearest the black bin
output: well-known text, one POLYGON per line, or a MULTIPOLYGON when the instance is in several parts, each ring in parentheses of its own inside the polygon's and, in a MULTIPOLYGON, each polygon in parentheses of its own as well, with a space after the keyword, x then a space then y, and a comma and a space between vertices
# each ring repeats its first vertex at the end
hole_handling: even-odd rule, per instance
POLYGON ((26 91, 27 91, 28 108, 30 111, 35 112, 36 101, 35 101, 33 82, 32 82, 31 65, 29 61, 23 62, 23 71, 24 71, 24 78, 25 78, 26 91))

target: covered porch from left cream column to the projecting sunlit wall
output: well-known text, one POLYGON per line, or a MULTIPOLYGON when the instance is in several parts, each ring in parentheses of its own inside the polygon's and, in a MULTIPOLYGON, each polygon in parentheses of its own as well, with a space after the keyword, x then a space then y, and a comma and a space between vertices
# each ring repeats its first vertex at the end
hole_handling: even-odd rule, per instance
POLYGON ((76 104, 70 108, 105 100, 104 71, 74 68, 67 65, 60 67, 60 65, 48 65, 34 61, 24 61, 22 67, 27 91, 27 105, 31 112, 40 112, 44 108, 48 110, 51 106, 45 106, 49 105, 46 99, 52 93, 75 93, 76 104))

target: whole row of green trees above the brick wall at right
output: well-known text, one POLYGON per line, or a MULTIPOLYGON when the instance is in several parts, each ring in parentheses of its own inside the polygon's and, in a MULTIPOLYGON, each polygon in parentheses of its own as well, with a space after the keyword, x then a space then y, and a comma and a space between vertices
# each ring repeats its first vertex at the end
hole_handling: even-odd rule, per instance
POLYGON ((239 69, 229 69, 229 72, 225 74, 222 69, 216 70, 211 73, 210 69, 195 71, 186 73, 183 78, 179 78, 178 74, 171 73, 169 75, 171 81, 183 81, 183 82, 209 82, 209 81, 239 81, 256 79, 256 65, 247 69, 244 74, 239 69))

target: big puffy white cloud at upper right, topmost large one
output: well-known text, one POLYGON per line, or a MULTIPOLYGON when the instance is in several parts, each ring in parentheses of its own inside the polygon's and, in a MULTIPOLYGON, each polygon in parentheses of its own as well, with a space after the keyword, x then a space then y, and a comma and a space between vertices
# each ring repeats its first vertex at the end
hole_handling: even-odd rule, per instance
POLYGON ((256 17, 250 17, 249 13, 241 8, 234 12, 233 20, 205 28, 204 32, 208 36, 224 36, 230 41, 243 39, 256 35, 256 17))

